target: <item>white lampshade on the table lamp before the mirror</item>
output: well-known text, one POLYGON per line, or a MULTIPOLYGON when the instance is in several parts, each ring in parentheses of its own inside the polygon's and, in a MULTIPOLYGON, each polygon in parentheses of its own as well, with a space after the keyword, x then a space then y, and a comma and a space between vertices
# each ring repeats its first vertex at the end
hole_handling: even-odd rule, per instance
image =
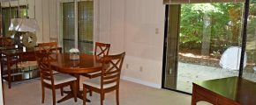
POLYGON ((32 18, 13 18, 9 31, 39 31, 39 27, 35 19, 32 18))

